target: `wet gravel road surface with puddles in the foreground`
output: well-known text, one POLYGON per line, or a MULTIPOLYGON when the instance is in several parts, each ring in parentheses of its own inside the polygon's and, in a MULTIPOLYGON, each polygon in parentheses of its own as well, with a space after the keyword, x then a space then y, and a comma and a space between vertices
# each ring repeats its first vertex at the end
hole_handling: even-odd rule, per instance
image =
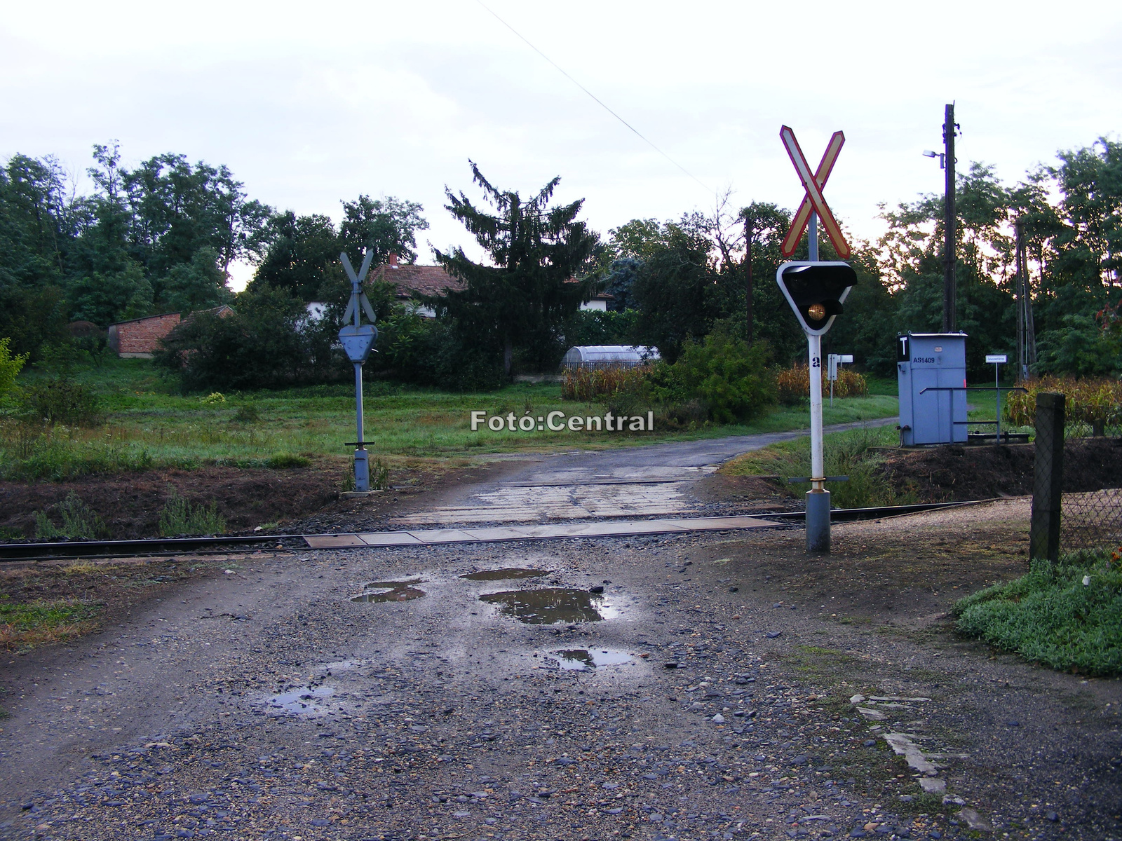
MULTIPOLYGON (((838 526, 829 563, 907 539, 908 521, 1022 515, 838 526)), ((9 659, 0 833, 1120 837, 1116 682, 956 640, 921 614, 930 594, 899 593, 892 623, 852 621, 779 585, 801 542, 228 560, 100 635, 9 659), (512 569, 543 574, 463 577, 512 569)))

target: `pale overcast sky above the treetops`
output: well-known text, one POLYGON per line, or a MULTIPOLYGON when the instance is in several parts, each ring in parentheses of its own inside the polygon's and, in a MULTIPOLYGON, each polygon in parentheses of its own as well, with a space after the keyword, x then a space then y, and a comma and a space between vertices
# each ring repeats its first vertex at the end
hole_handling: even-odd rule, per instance
POLYGON ((469 244, 442 206, 444 185, 478 196, 468 158, 524 195, 560 175, 558 198, 585 197, 606 233, 711 210, 724 188, 793 209, 780 126, 812 166, 842 129, 825 195, 874 238, 879 203, 941 191, 920 153, 940 148, 947 102, 959 167, 1006 181, 1122 129, 1116 0, 485 2, 690 175, 476 0, 9 3, 0 156, 54 154, 81 175, 91 145, 116 138, 128 165, 226 164, 297 213, 408 198, 432 224, 427 262, 425 241, 469 244))

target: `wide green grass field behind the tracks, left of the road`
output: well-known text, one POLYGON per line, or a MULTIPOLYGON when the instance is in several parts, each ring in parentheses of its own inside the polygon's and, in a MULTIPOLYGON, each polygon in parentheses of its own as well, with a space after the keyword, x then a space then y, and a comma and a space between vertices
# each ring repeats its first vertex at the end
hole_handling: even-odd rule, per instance
MULTIPOLYGON (((28 380, 43 377, 30 371, 28 380)), ((9 479, 65 479, 84 473, 123 472, 154 466, 192 469, 202 464, 266 466, 289 455, 346 456, 355 440, 355 392, 349 383, 284 391, 227 394, 224 403, 206 395, 180 395, 148 360, 108 360, 85 368, 75 379, 94 388, 105 424, 96 428, 29 429, 0 417, 0 475, 9 479), (251 407, 251 408, 247 408, 251 407)), ((21 378, 22 381, 22 378, 21 378)), ((804 428, 808 409, 778 407, 745 425, 707 426, 652 434, 536 431, 472 432, 470 413, 527 412, 545 416, 604 415, 599 404, 561 399, 559 383, 515 383, 486 394, 458 394, 395 383, 368 382, 364 413, 366 440, 383 456, 450 458, 516 451, 548 452, 657 441, 697 440, 804 428)), ((886 395, 835 400, 824 409, 826 424, 896 414, 886 395)))

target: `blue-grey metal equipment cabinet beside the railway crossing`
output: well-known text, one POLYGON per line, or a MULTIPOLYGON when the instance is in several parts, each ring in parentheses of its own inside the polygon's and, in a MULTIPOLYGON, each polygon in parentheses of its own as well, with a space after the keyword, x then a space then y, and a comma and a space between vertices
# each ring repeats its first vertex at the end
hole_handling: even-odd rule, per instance
POLYGON ((966 442, 966 334, 908 333, 896 339, 900 443, 966 442))

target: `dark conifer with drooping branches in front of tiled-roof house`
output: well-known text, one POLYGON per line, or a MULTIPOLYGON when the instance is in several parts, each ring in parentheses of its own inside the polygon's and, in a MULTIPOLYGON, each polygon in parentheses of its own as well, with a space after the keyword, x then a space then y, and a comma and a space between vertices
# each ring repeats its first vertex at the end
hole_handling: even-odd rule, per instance
POLYGON ((471 165, 472 181, 490 214, 445 187, 447 209, 489 255, 490 266, 468 259, 462 248, 436 251, 436 259, 466 288, 432 299, 441 317, 461 336, 484 349, 502 350, 507 375, 514 350, 539 369, 557 363, 564 321, 594 292, 588 272, 599 253, 599 238, 577 220, 583 200, 549 204, 561 178, 553 178, 526 201, 515 191, 494 187, 471 165), (582 276, 582 277, 579 277, 582 276))

